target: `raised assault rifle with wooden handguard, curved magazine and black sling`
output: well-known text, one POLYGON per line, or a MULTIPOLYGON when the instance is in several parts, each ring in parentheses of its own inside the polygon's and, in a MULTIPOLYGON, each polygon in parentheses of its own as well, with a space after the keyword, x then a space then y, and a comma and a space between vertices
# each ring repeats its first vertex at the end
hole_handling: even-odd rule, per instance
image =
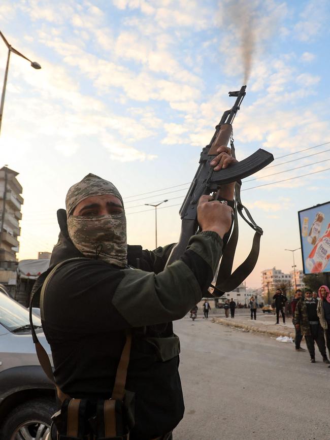
MULTIPOLYGON (((168 259, 167 265, 178 260, 183 255, 191 235, 197 232, 199 227, 197 223, 197 204, 200 197, 204 194, 212 194, 215 199, 220 199, 219 188, 231 182, 235 184, 235 209, 232 232, 229 240, 224 237, 224 251, 219 265, 216 286, 214 287, 215 296, 221 296, 224 292, 230 292, 238 287, 245 278, 252 272, 259 255, 260 238, 263 233, 262 229, 255 223, 249 211, 241 202, 241 179, 251 176, 274 160, 271 153, 259 149, 246 159, 230 164, 228 168, 219 171, 213 171, 210 162, 217 155, 217 148, 221 145, 227 146, 230 140, 232 156, 235 157, 235 147, 233 139, 232 123, 240 105, 245 96, 246 86, 241 90, 229 92, 229 96, 235 96, 237 99, 232 109, 226 110, 219 124, 215 127, 215 133, 209 145, 203 148, 200 158, 200 165, 193 178, 187 195, 180 209, 181 234, 177 245, 173 248, 168 259), (248 219, 243 214, 243 209, 248 219), (237 213, 255 230, 252 249, 246 260, 232 274, 233 260, 238 241, 238 217, 237 213)), ((226 234, 227 236, 229 234, 226 234)))

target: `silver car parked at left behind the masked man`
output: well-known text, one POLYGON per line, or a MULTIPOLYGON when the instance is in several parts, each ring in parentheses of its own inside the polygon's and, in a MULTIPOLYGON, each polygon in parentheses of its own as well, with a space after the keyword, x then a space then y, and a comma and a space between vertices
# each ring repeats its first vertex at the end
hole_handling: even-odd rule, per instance
MULTIPOLYGON (((34 315, 33 322, 50 354, 40 318, 34 315)), ((56 409, 54 386, 32 341, 28 310, 0 294, 0 439, 45 440, 56 409)))

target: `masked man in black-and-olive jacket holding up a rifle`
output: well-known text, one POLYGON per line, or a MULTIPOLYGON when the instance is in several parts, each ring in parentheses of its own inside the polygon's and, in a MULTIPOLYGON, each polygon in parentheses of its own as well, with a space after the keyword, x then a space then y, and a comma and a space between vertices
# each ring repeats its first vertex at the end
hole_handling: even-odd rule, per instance
MULTIPOLYGON (((223 159, 232 162, 226 154, 220 157, 222 166, 223 159)), ((233 187, 223 188, 224 194, 233 194, 233 187)), ((184 412, 180 345, 172 321, 207 294, 232 210, 202 196, 197 208, 202 232, 164 269, 173 245, 153 252, 126 245, 123 201, 111 182, 89 174, 69 189, 65 205, 66 213, 57 213, 61 231, 50 269, 66 262, 44 295, 43 327, 56 384, 74 398, 109 399, 130 329, 125 390, 135 399, 135 425, 129 438, 171 439, 184 412), (138 260, 139 269, 134 268, 138 260)))

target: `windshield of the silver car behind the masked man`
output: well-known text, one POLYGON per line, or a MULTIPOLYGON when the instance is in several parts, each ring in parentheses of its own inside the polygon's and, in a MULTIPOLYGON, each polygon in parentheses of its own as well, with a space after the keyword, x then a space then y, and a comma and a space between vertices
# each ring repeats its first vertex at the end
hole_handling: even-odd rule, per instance
MULTIPOLYGON (((33 323, 36 327, 41 326, 41 320, 38 316, 33 316, 33 323)), ((18 302, 6 295, 0 295, 0 324, 7 330, 15 331, 18 328, 28 328, 30 321, 28 310, 18 302)))

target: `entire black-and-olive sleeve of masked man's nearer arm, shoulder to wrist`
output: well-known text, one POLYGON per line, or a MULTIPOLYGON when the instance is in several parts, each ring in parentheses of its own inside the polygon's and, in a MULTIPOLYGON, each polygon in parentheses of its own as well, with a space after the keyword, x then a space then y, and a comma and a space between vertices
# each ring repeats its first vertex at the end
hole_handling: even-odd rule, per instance
POLYGON ((203 231, 191 237, 180 260, 158 274, 88 258, 68 263, 46 288, 47 327, 81 334, 180 319, 207 291, 221 251, 219 235, 203 231))

